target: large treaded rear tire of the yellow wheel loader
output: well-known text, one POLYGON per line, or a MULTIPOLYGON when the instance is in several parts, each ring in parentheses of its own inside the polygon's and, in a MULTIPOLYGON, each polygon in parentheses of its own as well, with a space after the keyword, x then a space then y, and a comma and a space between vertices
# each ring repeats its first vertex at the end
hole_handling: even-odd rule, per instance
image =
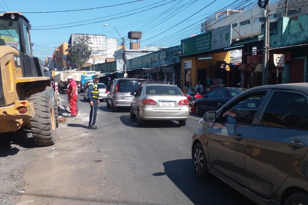
POLYGON ((34 103, 35 116, 30 118, 34 143, 37 146, 49 146, 56 141, 55 110, 48 93, 36 93, 30 96, 34 103))

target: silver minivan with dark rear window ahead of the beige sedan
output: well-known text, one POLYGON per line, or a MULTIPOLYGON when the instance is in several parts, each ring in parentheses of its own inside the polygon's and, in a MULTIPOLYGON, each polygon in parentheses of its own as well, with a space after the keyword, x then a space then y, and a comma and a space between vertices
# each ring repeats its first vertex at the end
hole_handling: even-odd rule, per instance
POLYGON ((112 108, 113 112, 118 107, 130 107, 132 99, 140 86, 139 79, 135 78, 118 78, 111 82, 107 94, 107 108, 112 108))

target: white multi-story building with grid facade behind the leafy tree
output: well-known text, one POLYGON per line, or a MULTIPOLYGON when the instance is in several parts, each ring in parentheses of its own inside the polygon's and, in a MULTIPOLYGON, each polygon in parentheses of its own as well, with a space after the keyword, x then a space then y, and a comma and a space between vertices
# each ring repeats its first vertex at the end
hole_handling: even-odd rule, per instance
POLYGON ((106 35, 94 34, 71 34, 68 41, 69 46, 73 45, 74 41, 79 37, 90 37, 89 46, 92 49, 91 58, 87 61, 89 63, 104 63, 107 58, 113 58, 114 52, 118 49, 117 38, 107 37, 106 35))

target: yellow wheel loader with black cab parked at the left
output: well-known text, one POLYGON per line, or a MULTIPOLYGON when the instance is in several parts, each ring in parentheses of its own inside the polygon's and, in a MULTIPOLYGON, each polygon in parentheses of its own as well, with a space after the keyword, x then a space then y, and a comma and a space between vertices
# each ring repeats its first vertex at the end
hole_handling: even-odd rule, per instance
POLYGON ((58 106, 42 61, 33 57, 30 28, 18 12, 0 14, 0 133, 30 126, 34 143, 47 146, 56 141, 58 106))

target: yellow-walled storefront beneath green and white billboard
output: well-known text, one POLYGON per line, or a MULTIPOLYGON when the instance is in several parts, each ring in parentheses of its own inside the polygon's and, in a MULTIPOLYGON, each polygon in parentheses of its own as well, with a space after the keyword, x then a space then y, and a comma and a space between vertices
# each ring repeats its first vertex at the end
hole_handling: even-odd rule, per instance
POLYGON ((227 84, 231 45, 231 25, 181 40, 181 88, 198 81, 207 87, 227 84))

